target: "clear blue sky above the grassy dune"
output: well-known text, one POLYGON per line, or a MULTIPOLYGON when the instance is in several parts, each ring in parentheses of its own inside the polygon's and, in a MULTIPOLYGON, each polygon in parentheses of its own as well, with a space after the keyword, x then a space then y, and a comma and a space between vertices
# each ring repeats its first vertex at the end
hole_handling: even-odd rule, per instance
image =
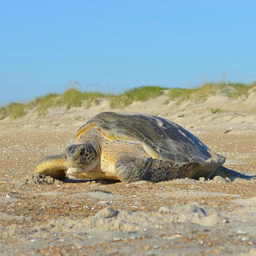
POLYGON ((0 105, 70 81, 119 92, 224 72, 255 80, 255 0, 0 0, 0 105))

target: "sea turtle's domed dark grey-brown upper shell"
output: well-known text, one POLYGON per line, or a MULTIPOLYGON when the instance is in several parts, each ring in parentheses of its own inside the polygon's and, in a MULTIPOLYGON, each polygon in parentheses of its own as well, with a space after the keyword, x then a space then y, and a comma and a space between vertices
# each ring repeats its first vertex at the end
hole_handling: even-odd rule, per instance
POLYGON ((82 126, 71 140, 95 127, 109 140, 140 143, 152 156, 162 160, 184 162, 224 162, 196 136, 178 124, 158 116, 139 113, 102 112, 82 126), (214 158, 214 159, 213 159, 214 158))

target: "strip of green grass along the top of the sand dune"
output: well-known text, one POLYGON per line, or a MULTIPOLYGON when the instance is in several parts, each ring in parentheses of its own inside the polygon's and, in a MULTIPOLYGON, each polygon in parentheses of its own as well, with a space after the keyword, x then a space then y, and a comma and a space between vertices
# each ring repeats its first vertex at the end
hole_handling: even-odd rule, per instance
MULTIPOLYGON (((83 92, 77 87, 69 88, 62 94, 50 93, 42 97, 36 97, 28 103, 12 102, 7 106, 0 107, 0 120, 10 117, 18 118, 25 116, 28 110, 35 108, 39 115, 45 115, 49 108, 64 106, 89 108, 92 104, 98 104, 99 100, 106 98, 112 109, 122 109, 133 102, 145 102, 160 95, 165 96, 164 104, 175 101, 176 104, 192 100, 202 102, 217 93, 224 94, 230 99, 247 98, 249 91, 256 92, 256 82, 251 84, 232 82, 208 82, 198 88, 165 88, 160 86, 140 86, 124 91, 121 94, 104 94, 101 92, 83 92)), ((214 109, 212 112, 216 112, 214 109)), ((217 111, 219 112, 219 110, 217 111)))

